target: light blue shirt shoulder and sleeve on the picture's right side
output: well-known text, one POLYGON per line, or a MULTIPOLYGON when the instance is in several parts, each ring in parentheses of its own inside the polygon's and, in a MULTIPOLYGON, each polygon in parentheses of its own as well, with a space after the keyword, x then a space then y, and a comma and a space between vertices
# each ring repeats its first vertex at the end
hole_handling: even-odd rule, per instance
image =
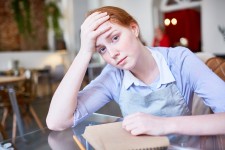
POLYGON ((196 93, 214 113, 225 112, 225 82, 202 60, 185 47, 155 49, 165 57, 189 108, 196 93))

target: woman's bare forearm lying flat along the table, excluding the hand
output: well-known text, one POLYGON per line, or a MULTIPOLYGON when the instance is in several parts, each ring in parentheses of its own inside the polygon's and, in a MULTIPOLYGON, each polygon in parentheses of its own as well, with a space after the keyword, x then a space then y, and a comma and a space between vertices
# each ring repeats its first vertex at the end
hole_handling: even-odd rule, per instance
POLYGON ((165 125, 166 134, 225 134, 225 113, 170 117, 165 119, 165 125))

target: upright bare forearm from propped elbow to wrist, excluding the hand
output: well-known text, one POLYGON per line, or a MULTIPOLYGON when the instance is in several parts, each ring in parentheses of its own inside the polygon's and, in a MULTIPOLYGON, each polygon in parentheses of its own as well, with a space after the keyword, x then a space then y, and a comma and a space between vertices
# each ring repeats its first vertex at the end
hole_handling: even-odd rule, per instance
POLYGON ((73 124, 73 113, 91 52, 80 51, 56 89, 47 116, 47 125, 53 130, 62 130, 73 124))

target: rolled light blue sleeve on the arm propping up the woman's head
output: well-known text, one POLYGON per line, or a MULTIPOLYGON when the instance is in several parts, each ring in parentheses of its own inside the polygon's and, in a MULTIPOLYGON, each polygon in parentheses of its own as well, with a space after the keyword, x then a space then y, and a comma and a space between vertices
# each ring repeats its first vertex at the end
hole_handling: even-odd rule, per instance
POLYGON ((78 93, 73 127, 109 101, 118 99, 120 83, 120 71, 115 67, 106 66, 96 79, 78 93))

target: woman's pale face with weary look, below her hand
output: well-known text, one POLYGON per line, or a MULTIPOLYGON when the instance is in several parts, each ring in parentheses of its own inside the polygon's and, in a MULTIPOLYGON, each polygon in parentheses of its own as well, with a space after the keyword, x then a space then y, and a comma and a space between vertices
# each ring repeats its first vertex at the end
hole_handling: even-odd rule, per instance
POLYGON ((96 51, 108 64, 120 69, 133 69, 139 56, 138 26, 133 23, 130 27, 123 27, 107 21, 97 30, 101 30, 105 26, 111 28, 98 36, 96 51))

